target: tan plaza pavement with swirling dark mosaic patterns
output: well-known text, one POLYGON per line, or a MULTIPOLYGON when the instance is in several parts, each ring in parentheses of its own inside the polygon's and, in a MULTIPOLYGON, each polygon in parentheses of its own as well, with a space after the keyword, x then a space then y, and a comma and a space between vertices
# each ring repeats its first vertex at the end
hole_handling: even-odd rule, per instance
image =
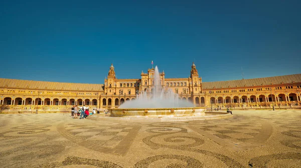
POLYGON ((0 167, 301 167, 301 110, 125 121, 0 114, 0 167))

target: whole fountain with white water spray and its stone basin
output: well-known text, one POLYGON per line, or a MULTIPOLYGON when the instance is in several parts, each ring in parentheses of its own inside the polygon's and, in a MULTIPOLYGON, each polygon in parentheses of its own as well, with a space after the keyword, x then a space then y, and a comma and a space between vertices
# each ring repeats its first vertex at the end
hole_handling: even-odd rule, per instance
POLYGON ((205 115, 206 107, 196 107, 192 102, 182 100, 170 88, 161 85, 158 67, 155 67, 154 87, 142 91, 135 100, 126 101, 119 108, 111 109, 110 116, 145 116, 153 118, 179 118, 205 115))

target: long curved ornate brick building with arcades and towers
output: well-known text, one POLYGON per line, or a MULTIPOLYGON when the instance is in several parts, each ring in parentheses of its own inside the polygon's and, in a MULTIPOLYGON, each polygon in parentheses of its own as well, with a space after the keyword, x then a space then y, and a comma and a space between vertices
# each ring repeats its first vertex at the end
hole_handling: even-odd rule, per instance
MULTIPOLYGON (((85 104, 91 108, 116 108, 136 98, 141 91, 150 92, 155 69, 141 72, 139 79, 118 79, 113 64, 104 84, 65 83, 0 78, 0 104, 7 111, 68 111, 71 105, 85 104)), ((165 78, 160 73, 164 89, 171 88, 179 98, 196 106, 232 108, 266 108, 301 105, 301 74, 202 82, 196 65, 188 78, 165 78)), ((149 95, 151 96, 151 95, 149 95)))

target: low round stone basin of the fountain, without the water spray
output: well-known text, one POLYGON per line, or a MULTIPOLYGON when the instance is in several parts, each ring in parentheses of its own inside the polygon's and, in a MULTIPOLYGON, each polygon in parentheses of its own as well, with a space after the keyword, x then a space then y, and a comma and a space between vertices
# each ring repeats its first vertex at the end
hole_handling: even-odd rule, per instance
POLYGON ((110 116, 201 116, 205 115, 206 107, 177 108, 115 108, 110 109, 110 116))

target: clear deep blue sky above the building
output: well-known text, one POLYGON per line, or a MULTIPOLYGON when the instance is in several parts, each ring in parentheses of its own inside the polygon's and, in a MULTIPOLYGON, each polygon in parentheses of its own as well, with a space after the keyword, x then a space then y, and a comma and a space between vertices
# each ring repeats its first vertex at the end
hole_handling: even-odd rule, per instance
POLYGON ((158 65, 203 81, 300 73, 301 0, 4 0, 0 77, 103 83, 158 65))

